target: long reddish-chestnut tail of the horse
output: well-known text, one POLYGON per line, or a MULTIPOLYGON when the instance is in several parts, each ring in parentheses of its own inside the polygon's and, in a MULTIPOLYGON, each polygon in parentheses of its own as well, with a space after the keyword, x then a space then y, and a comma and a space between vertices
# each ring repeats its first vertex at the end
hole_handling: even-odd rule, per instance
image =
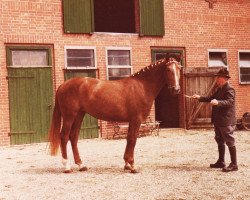
POLYGON ((52 156, 57 155, 58 148, 61 143, 60 129, 61 129, 61 110, 56 95, 55 107, 53 110, 53 116, 49 130, 49 142, 50 142, 49 148, 50 148, 50 155, 52 156))

